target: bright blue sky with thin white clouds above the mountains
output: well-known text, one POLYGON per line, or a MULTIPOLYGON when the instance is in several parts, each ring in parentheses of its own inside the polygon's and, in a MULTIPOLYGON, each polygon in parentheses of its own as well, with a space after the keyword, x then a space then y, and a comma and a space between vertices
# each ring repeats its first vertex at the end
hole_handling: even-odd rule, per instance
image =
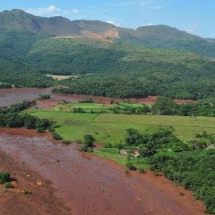
POLYGON ((121 27, 165 24, 215 38, 215 0, 0 0, 0 11, 101 20, 121 27))

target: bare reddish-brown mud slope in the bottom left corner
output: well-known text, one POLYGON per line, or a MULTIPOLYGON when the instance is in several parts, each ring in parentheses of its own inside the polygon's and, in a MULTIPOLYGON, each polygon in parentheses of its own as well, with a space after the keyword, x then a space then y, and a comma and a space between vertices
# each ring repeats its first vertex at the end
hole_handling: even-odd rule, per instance
MULTIPOLYGON (((0 192, 0 214, 7 215, 69 215, 71 210, 54 194, 51 182, 25 165, 16 162, 0 151, 0 171, 11 173, 12 184, 15 186, 7 192, 0 192), (32 194, 24 195, 23 189, 32 194)), ((4 185, 0 185, 1 191, 4 185)))

